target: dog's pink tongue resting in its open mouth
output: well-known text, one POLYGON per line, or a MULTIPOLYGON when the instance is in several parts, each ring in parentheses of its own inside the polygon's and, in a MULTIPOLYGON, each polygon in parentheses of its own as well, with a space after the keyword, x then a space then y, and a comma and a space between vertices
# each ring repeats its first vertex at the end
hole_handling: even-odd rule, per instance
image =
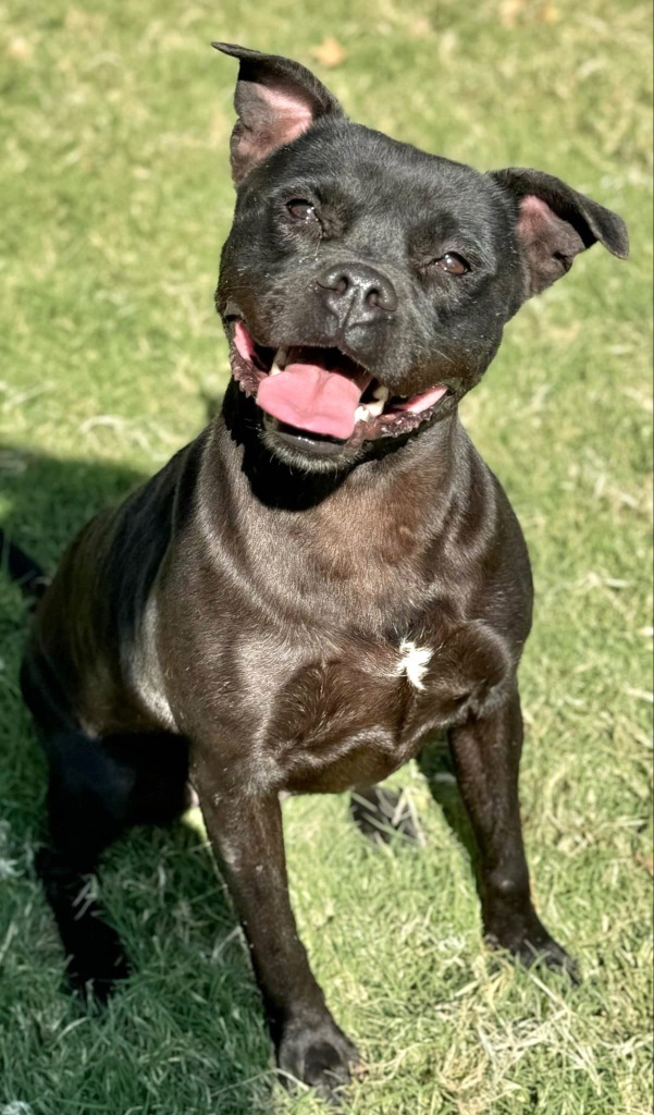
POLYGON ((260 407, 273 418, 342 440, 354 429, 360 399, 361 388, 353 379, 315 363, 291 363, 266 376, 256 392, 260 407))

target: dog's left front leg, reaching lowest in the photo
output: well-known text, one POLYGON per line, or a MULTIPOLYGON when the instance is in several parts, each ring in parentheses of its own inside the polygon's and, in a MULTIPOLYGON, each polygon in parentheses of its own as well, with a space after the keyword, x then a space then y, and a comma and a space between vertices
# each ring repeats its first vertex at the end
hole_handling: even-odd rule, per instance
POLYGON ((297 937, 277 795, 225 793, 203 764, 195 765, 194 782, 250 943, 280 1069, 286 1080, 334 1098, 358 1054, 330 1015, 297 937))

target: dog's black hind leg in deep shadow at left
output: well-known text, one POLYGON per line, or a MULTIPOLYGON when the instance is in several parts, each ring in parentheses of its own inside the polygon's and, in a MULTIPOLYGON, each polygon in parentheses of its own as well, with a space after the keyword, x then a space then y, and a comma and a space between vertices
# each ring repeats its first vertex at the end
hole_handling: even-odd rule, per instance
POLYGON ((129 966, 94 895, 92 873, 103 851, 127 827, 165 823, 183 809, 186 743, 174 736, 98 740, 68 730, 50 735, 45 745, 51 843, 38 852, 37 872, 71 987, 106 1000, 129 966))

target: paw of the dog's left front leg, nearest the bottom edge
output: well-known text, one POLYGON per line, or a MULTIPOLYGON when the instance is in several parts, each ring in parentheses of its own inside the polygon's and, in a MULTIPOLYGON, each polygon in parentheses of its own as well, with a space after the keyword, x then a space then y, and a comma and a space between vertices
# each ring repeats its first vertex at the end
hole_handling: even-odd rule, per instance
POLYGON ((289 1024, 277 1049, 277 1065, 286 1087, 293 1089, 300 1082, 334 1106, 342 1104, 343 1089, 358 1064, 357 1047, 329 1015, 318 1021, 289 1024))

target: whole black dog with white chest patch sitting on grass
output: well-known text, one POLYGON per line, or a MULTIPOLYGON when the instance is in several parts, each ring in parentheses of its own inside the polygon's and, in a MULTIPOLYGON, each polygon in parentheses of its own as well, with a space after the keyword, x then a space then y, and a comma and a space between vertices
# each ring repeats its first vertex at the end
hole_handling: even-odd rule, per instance
POLYGON ((108 993, 127 963, 98 906, 76 905, 84 875, 126 826, 178 813, 189 778, 279 1065, 329 1096, 357 1053, 297 939, 282 792, 373 786, 447 730, 486 935, 570 966, 520 832, 529 562, 457 405, 525 299, 627 237, 557 178, 423 154, 350 124, 295 62, 216 46, 241 62, 216 294, 233 379, 38 605, 22 669, 50 764, 38 863, 71 981, 108 993))

